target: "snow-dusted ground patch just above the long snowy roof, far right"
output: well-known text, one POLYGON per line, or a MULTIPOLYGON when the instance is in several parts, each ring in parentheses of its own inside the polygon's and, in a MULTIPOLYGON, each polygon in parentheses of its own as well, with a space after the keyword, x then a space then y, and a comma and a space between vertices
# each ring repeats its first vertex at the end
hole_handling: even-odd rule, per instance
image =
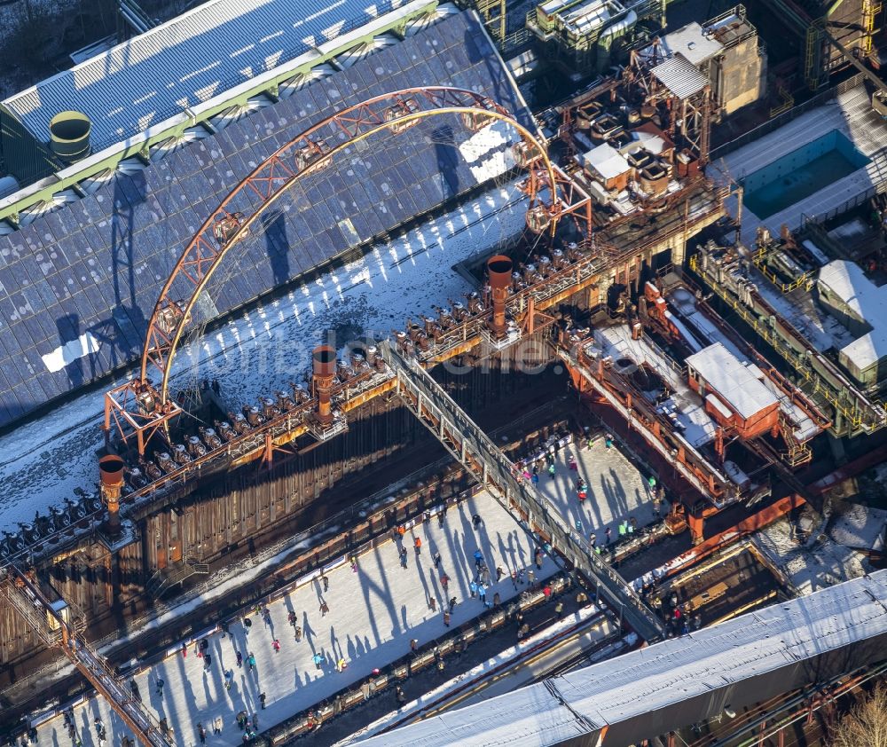
POLYGON ((755 544, 783 570, 798 594, 812 594, 866 573, 862 555, 831 539, 808 548, 788 519, 770 524, 754 535, 755 544))

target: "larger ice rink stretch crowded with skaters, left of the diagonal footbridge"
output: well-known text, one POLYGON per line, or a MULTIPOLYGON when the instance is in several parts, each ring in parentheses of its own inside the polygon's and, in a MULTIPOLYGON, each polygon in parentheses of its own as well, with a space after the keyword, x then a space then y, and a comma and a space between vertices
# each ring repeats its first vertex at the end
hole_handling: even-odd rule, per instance
MULTIPOLYGON (((198 743, 198 721, 207 727, 209 745, 240 744, 242 733, 234 718, 241 709, 249 715, 258 713, 260 729, 271 727, 362 680, 373 668, 404 656, 410 650, 411 638, 423 645, 442 636, 446 628, 441 609, 446 596, 459 600, 452 613, 451 630, 483 611, 483 604, 470 599, 468 593, 468 583, 475 573, 475 549, 483 552, 493 578, 497 565, 506 571, 502 581, 490 587, 488 601, 496 592, 503 602, 517 594, 510 571, 530 568, 533 563, 534 545, 530 537, 486 493, 452 507, 443 529, 433 519, 428 526, 412 527, 405 539, 409 551, 406 570, 400 567, 396 544, 384 542, 359 557, 357 573, 345 562, 328 570, 326 594, 320 583, 314 581, 273 602, 269 607, 271 627, 263 625, 261 617, 253 616, 248 638, 240 622, 231 626, 233 641, 221 633, 210 636, 209 672, 204 671, 203 660, 195 656, 192 646, 187 657, 176 653, 137 673, 135 679, 143 702, 157 718, 168 719, 179 747, 198 743), (472 527, 471 517, 475 513, 483 517, 479 531, 472 527), (414 537, 422 540, 418 558, 412 547, 414 537), (440 570, 435 569, 431 560, 436 550, 443 558, 440 570), (444 571, 451 579, 448 594, 440 583, 444 571), (436 598, 436 612, 428 609, 428 594, 436 598), (329 606, 326 616, 319 612, 321 600, 329 606), (304 631, 298 643, 287 623, 290 609, 296 612, 304 631), (271 648, 275 637, 281 645, 277 653, 271 648), (245 658, 249 652, 255 655, 254 671, 248 671, 246 661, 241 668, 236 665, 236 649, 245 658), (311 660, 316 652, 324 658, 319 670, 311 660), (344 672, 335 669, 339 657, 348 662, 344 672), (223 672, 229 669, 234 672, 234 683, 226 691, 223 672), (165 682, 162 697, 156 693, 158 676, 165 682), (265 710, 259 704, 260 693, 266 696, 265 710), (221 735, 213 735, 209 728, 216 716, 224 719, 221 735)), ((546 557, 542 570, 533 570, 538 578, 545 578, 557 567, 546 557)), ((119 744, 126 734, 122 721, 104 698, 94 697, 75 708, 75 723, 84 747, 98 747, 92 727, 96 715, 105 722, 110 742, 119 744)), ((53 747, 67 747, 69 743, 60 717, 44 722, 38 734, 41 743, 53 747)))

